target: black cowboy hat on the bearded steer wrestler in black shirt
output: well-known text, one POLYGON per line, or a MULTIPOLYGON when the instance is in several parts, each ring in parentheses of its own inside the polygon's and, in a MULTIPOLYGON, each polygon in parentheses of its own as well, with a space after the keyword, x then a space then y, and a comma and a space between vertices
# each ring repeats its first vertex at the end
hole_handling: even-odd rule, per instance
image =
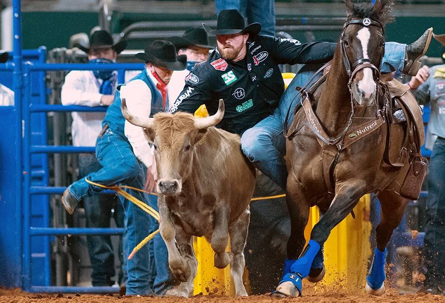
POLYGON ((250 33, 256 35, 261 30, 259 23, 252 23, 246 26, 246 19, 236 9, 223 9, 219 12, 216 29, 211 29, 202 23, 205 31, 209 35, 231 35, 238 33, 250 33))

